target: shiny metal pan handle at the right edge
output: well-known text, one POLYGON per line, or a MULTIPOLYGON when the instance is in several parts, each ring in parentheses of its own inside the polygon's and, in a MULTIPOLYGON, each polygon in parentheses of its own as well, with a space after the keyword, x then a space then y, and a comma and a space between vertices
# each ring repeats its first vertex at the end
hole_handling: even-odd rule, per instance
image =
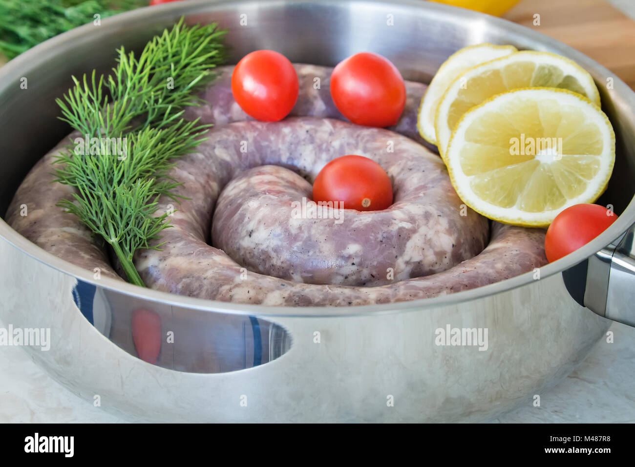
POLYGON ((635 224, 590 257, 586 269, 582 304, 600 316, 635 327, 635 224))

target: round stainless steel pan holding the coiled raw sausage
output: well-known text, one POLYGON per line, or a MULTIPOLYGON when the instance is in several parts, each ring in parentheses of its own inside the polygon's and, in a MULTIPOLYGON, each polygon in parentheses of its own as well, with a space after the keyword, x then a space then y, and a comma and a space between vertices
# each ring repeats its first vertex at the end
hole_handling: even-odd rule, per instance
POLYGON ((533 403, 581 362, 610 325, 591 309, 633 323, 635 94, 549 37, 424 1, 189 1, 37 46, 0 69, 0 215, 29 168, 68 132, 55 119, 54 98, 70 76, 107 71, 115 48, 140 48, 181 15, 228 28, 234 62, 271 48, 292 61, 334 65, 370 50, 406 78, 427 81, 453 51, 484 41, 566 55, 594 76, 615 127, 617 162, 599 202, 620 218, 542 267, 539 279, 528 273, 445 297, 345 309, 211 302, 96 279, 0 220, 0 319, 5 327, 51 328, 49 351, 26 349, 71 391, 132 419, 478 421, 533 403), (90 313, 86 295, 74 299, 78 289, 90 291, 90 313), (139 308, 156 313, 164 336, 173 333, 154 365, 137 358, 130 323, 139 308), (437 345, 438 329, 448 326, 487 330, 487 348, 437 345))

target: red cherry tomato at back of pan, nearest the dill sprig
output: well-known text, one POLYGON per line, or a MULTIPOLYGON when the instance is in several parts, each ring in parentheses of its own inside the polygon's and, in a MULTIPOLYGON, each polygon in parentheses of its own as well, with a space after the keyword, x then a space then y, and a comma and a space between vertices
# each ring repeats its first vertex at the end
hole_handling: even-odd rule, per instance
POLYGON ((262 121, 286 117, 298 100, 298 74, 288 58, 273 50, 248 53, 232 74, 232 93, 248 115, 262 121))

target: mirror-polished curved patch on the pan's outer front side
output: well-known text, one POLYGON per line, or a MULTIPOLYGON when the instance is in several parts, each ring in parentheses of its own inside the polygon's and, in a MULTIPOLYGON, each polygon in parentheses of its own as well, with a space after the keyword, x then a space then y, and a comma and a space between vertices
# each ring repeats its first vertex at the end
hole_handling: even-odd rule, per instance
MULTIPOLYGON (((168 304, 148 306, 145 301, 98 289, 83 281, 78 281, 73 288, 75 295, 78 290, 90 299, 88 308, 79 303, 80 310, 91 312, 92 316, 87 318, 92 318, 102 334, 131 355, 137 355, 138 348, 156 344, 159 346, 157 359, 151 361, 160 367, 182 372, 224 373, 270 362, 291 347, 286 330, 264 318, 220 313, 211 316, 207 311, 184 310, 168 304), (91 298, 93 290, 95 295, 91 298), (161 335, 135 327, 131 330, 133 316, 138 311, 146 315, 140 328, 159 323, 161 335)), ((139 353, 139 356, 144 355, 139 353)))

